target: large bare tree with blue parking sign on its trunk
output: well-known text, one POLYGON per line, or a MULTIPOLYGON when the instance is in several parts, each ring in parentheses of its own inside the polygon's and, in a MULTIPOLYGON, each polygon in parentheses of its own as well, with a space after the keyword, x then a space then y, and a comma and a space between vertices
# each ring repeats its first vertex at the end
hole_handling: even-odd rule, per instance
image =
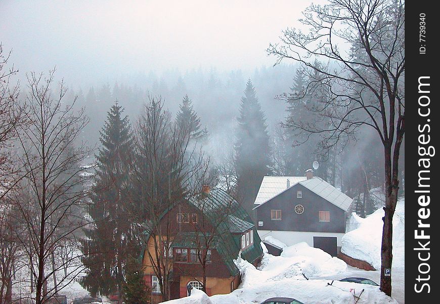
POLYGON ((391 295, 392 217, 398 199, 399 155, 405 134, 405 3, 391 0, 329 0, 312 5, 301 23, 308 28, 283 31, 281 43, 268 52, 302 64, 312 81, 307 91, 325 86, 327 95, 316 109, 330 123, 323 129, 292 126, 324 136, 324 146, 364 126, 376 130, 383 146, 385 216, 380 288, 391 295), (349 52, 339 48, 351 47, 349 52), (315 60, 322 61, 315 64, 315 60), (319 74, 315 78, 314 74, 319 74), (325 134, 325 135, 324 135, 325 134))

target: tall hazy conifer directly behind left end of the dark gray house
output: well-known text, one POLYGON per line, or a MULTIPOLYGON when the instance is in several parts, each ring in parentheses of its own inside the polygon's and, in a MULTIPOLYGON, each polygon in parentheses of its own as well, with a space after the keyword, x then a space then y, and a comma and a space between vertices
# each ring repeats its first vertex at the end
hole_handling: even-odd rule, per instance
POLYGON ((266 118, 255 94, 255 88, 249 79, 241 98, 234 145, 238 196, 243 202, 243 207, 249 212, 261 180, 270 173, 271 167, 266 118))

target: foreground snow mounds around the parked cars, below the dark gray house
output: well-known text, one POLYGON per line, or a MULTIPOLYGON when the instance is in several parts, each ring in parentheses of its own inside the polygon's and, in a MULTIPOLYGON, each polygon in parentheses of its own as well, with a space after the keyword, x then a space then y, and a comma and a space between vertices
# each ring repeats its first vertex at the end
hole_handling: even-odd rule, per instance
POLYGON ((380 292, 377 286, 339 281, 329 286, 327 283, 332 279, 346 277, 350 270, 344 261, 306 243, 286 246, 281 256, 273 256, 265 250, 258 269, 245 260, 236 263, 242 273, 242 283, 232 293, 208 297, 199 290, 193 290, 189 297, 166 303, 253 304, 269 297, 287 296, 306 304, 347 304, 355 303, 355 293, 358 296, 363 289, 359 304, 398 303, 380 292), (303 274, 310 279, 306 280, 303 274))

